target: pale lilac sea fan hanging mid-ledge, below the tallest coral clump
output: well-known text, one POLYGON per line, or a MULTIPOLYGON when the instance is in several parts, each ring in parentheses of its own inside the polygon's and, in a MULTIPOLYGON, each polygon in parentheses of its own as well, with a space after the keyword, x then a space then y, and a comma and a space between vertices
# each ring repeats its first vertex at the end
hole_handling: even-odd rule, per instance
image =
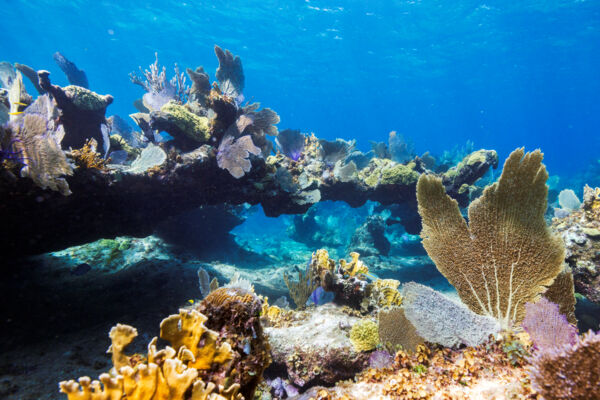
POLYGON ((219 145, 217 153, 217 164, 220 168, 229 171, 236 179, 244 176, 252 168, 248 160, 250 154, 260 154, 260 148, 252 142, 250 135, 235 139, 233 136, 225 136, 219 145))

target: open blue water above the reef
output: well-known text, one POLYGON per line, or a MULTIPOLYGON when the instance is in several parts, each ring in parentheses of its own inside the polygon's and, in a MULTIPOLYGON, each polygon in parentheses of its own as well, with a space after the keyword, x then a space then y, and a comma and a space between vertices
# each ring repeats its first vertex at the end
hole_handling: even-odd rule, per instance
MULTIPOLYGON (((503 159, 541 148, 553 174, 599 158, 600 2, 82 1, 0 2, 0 59, 48 69, 61 51, 126 116, 141 89, 128 73, 203 65, 213 45, 239 54, 247 99, 280 128, 385 140, 416 151, 470 139, 503 159)), ((30 90, 32 92, 33 90, 30 90)))

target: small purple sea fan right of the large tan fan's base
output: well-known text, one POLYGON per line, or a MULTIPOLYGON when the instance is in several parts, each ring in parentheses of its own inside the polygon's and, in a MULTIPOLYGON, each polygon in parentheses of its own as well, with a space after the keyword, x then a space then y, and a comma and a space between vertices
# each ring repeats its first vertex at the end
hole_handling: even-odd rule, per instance
POLYGON ((577 328, 559 312, 557 304, 545 297, 537 303, 525 304, 525 318, 521 325, 540 352, 577 342, 577 328))

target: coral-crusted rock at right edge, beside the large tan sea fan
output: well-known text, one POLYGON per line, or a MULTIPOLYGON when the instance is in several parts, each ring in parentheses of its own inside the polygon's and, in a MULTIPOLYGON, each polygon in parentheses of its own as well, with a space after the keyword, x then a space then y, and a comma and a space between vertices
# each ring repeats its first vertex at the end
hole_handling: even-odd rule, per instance
POLYGON ((600 304, 600 189, 586 186, 583 192, 581 208, 554 218, 552 230, 565 243, 565 259, 573 272, 575 290, 600 304))

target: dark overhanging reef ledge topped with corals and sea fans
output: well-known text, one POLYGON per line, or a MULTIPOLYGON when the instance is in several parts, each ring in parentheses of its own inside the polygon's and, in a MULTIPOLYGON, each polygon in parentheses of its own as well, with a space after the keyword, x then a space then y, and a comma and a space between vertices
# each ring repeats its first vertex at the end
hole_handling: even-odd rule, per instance
MULTIPOLYGON (((403 165, 375 158, 363 166, 356 163, 358 158, 356 162, 348 160, 356 153, 353 142, 319 141, 314 136, 306 138, 297 160, 281 153, 269 155, 272 142, 268 136, 278 134, 275 125, 279 116, 268 108, 259 110, 258 103, 241 106, 239 98, 225 94, 225 86, 229 85, 239 95, 243 87, 241 62, 226 51, 219 58, 217 79, 221 83, 213 84, 207 93, 208 75, 198 68, 196 75, 192 74, 196 85, 192 97, 187 95, 181 73, 176 69, 175 76, 167 80, 158 61, 142 72, 142 78, 132 75, 134 83, 143 87, 146 94, 153 94, 146 96, 148 107, 140 107, 146 112, 131 115, 141 129, 140 134, 115 123, 115 118, 106 120, 106 107, 112 102, 110 95, 101 96, 79 86, 52 85, 49 73, 39 71, 40 87, 52 96, 56 105, 52 107, 57 114, 47 123, 54 124, 57 139, 60 137, 57 133, 64 130, 63 140, 58 141, 62 148, 81 149, 89 139, 94 139, 98 143, 96 151, 103 158, 113 157, 114 164, 109 163, 105 171, 78 168, 70 176, 61 162, 57 165, 65 167, 65 172, 56 177, 58 183, 55 178, 42 179, 40 182, 54 183, 37 188, 32 182, 16 178, 14 172, 18 172, 22 166, 19 161, 23 161, 21 150, 15 148, 18 142, 3 133, 2 158, 11 162, 3 163, 3 171, 10 173, 0 175, 0 192, 10 195, 3 196, 6 201, 0 208, 0 218, 15 227, 10 238, 2 242, 3 254, 37 254, 117 235, 146 236, 165 219, 208 204, 260 203, 266 215, 277 216, 300 214, 325 200, 343 200, 352 207, 374 200, 402 205, 413 220, 416 218, 416 180, 425 171, 421 161, 415 159, 403 165), (158 99, 154 94, 164 98, 158 99), (164 102, 165 99, 168 101, 164 102), (154 109, 158 105, 160 110, 154 109), (169 134, 161 134, 161 129, 169 134), (249 146, 247 136, 253 146, 249 146), (167 157, 154 151, 160 153, 160 168, 155 168, 159 165, 155 163, 148 173, 137 173, 137 168, 131 169, 131 162, 140 156, 147 141, 165 142, 160 145, 167 157), (236 143, 244 145, 241 147, 245 150, 237 151, 240 146, 236 147, 236 143), (231 151, 232 148, 237 150, 231 151), (260 155, 256 154, 256 148, 260 149, 260 155), (246 157, 248 150, 254 153, 250 157, 246 157), (242 172, 243 177, 237 179, 242 172), (64 176, 67 179, 61 181, 64 176), (59 189, 66 194, 67 182, 73 194, 66 199, 42 190, 60 185, 59 189), (23 216, 30 223, 19 223, 23 216)), ((27 100, 28 95, 23 94, 22 85, 18 84, 20 73, 8 67, 6 80, 11 82, 12 96, 19 99, 19 104, 10 102, 14 108, 11 112, 17 113, 10 117, 18 122, 27 114, 24 110, 31 107, 27 107, 31 99, 27 100)), ((55 153, 68 164, 69 154, 63 160, 65 156, 59 151, 55 153)), ((461 175, 453 184, 464 177, 466 181, 460 183, 472 185, 480 177, 477 174, 485 173, 490 166, 491 163, 484 163, 476 173, 461 175)))

